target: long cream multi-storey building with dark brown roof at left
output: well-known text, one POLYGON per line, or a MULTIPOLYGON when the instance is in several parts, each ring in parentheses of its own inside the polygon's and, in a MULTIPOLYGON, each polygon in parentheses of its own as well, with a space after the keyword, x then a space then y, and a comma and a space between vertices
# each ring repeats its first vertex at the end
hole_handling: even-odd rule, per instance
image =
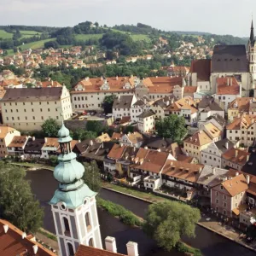
POLYGON ((46 119, 72 116, 69 91, 63 87, 8 89, 1 101, 3 124, 19 130, 40 130, 46 119))

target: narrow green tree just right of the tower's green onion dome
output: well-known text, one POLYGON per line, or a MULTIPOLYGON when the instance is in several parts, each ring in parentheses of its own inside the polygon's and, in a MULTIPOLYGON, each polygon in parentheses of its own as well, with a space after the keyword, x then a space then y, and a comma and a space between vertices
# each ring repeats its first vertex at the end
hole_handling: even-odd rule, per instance
POLYGON ((101 189, 101 176, 100 176, 100 169, 97 166, 95 160, 91 161, 90 163, 84 163, 84 183, 95 192, 99 192, 101 189))

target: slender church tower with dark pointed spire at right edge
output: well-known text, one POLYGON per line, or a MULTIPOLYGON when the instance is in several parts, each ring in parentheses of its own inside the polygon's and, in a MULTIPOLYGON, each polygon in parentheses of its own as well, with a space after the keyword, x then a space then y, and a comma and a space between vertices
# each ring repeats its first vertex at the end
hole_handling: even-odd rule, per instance
POLYGON ((248 50, 247 58, 249 61, 249 72, 251 73, 252 80, 254 81, 256 80, 256 44, 255 44, 255 37, 254 37, 253 20, 252 20, 251 34, 248 41, 247 50, 248 50))

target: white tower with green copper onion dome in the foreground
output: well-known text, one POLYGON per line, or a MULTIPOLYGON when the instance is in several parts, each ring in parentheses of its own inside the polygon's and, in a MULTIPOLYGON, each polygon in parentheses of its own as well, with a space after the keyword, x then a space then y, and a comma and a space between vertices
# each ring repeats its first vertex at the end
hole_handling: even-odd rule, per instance
POLYGON ((63 123, 58 137, 61 154, 54 177, 59 182, 59 188, 55 190, 49 204, 61 256, 74 255, 80 244, 102 249, 96 193, 84 184, 84 166, 76 160, 76 154, 72 152, 72 138, 63 123))

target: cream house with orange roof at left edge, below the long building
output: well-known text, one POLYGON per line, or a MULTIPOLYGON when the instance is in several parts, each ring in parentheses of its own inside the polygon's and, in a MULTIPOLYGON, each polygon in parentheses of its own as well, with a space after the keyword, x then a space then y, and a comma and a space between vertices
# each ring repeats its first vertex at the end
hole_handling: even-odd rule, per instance
POLYGON ((7 147, 12 142, 15 136, 20 136, 20 131, 9 127, 0 126, 0 157, 6 157, 8 155, 7 147))

